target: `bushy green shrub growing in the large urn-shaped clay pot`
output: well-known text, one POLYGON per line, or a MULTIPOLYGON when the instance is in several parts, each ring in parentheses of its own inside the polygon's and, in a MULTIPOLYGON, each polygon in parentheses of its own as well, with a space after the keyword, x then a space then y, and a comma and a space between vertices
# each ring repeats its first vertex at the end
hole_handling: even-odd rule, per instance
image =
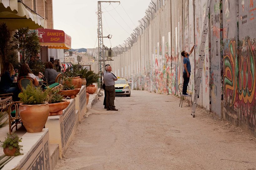
POLYGON ((35 88, 32 85, 28 85, 27 89, 23 89, 23 92, 20 93, 18 97, 23 104, 43 104, 46 101, 47 93, 42 92, 41 88, 39 87, 35 88))

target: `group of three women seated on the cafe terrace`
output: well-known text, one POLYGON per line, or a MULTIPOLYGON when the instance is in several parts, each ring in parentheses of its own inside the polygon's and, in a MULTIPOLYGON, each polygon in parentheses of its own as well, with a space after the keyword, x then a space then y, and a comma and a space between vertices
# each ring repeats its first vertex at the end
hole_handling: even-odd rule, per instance
MULTIPOLYGON (((44 80, 47 83, 47 85, 51 85, 55 83, 57 75, 58 72, 53 68, 53 64, 49 61, 45 64, 45 75, 39 72, 38 77, 39 79, 44 80)), ((0 94, 13 93, 13 100, 19 101, 18 94, 20 93, 20 89, 18 88, 18 86, 11 87, 15 76, 13 65, 11 63, 5 63, 0 76, 0 94)), ((22 76, 29 76, 33 78, 34 85, 39 85, 37 77, 31 72, 29 65, 26 63, 21 65, 20 72, 17 75, 17 79, 19 80, 19 77, 22 76)))

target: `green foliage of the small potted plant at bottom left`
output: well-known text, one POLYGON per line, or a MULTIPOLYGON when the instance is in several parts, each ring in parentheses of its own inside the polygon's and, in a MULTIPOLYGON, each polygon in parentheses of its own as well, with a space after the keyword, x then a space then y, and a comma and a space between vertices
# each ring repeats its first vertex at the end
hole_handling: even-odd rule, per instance
POLYGON ((13 148, 16 148, 16 152, 15 152, 15 156, 18 155, 23 155, 23 153, 20 153, 20 151, 22 151, 22 145, 19 145, 19 142, 21 142, 22 138, 19 138, 16 134, 8 134, 7 133, 7 137, 5 138, 5 140, 3 142, 1 142, 1 147, 4 148, 9 148, 10 150, 12 150, 13 148))

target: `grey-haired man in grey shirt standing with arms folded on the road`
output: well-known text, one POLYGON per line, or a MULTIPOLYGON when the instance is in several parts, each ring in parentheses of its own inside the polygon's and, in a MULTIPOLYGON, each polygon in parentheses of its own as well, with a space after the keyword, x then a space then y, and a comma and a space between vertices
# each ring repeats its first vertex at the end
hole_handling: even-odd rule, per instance
POLYGON ((115 81, 117 80, 117 77, 111 73, 112 68, 111 66, 106 66, 105 67, 106 73, 103 75, 103 80, 105 83, 105 89, 107 92, 107 98, 106 98, 106 107, 107 110, 114 110, 118 111, 116 109, 114 101, 115 101, 115 96, 116 96, 116 90, 115 90, 115 81))

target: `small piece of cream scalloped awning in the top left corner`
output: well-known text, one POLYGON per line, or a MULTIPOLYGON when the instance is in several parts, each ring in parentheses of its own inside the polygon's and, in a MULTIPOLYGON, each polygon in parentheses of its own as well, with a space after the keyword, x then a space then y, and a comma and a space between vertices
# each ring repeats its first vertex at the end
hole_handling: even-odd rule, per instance
POLYGON ((11 13, 18 13, 18 1, 17 0, 0 0, 0 11, 6 11, 11 13))

